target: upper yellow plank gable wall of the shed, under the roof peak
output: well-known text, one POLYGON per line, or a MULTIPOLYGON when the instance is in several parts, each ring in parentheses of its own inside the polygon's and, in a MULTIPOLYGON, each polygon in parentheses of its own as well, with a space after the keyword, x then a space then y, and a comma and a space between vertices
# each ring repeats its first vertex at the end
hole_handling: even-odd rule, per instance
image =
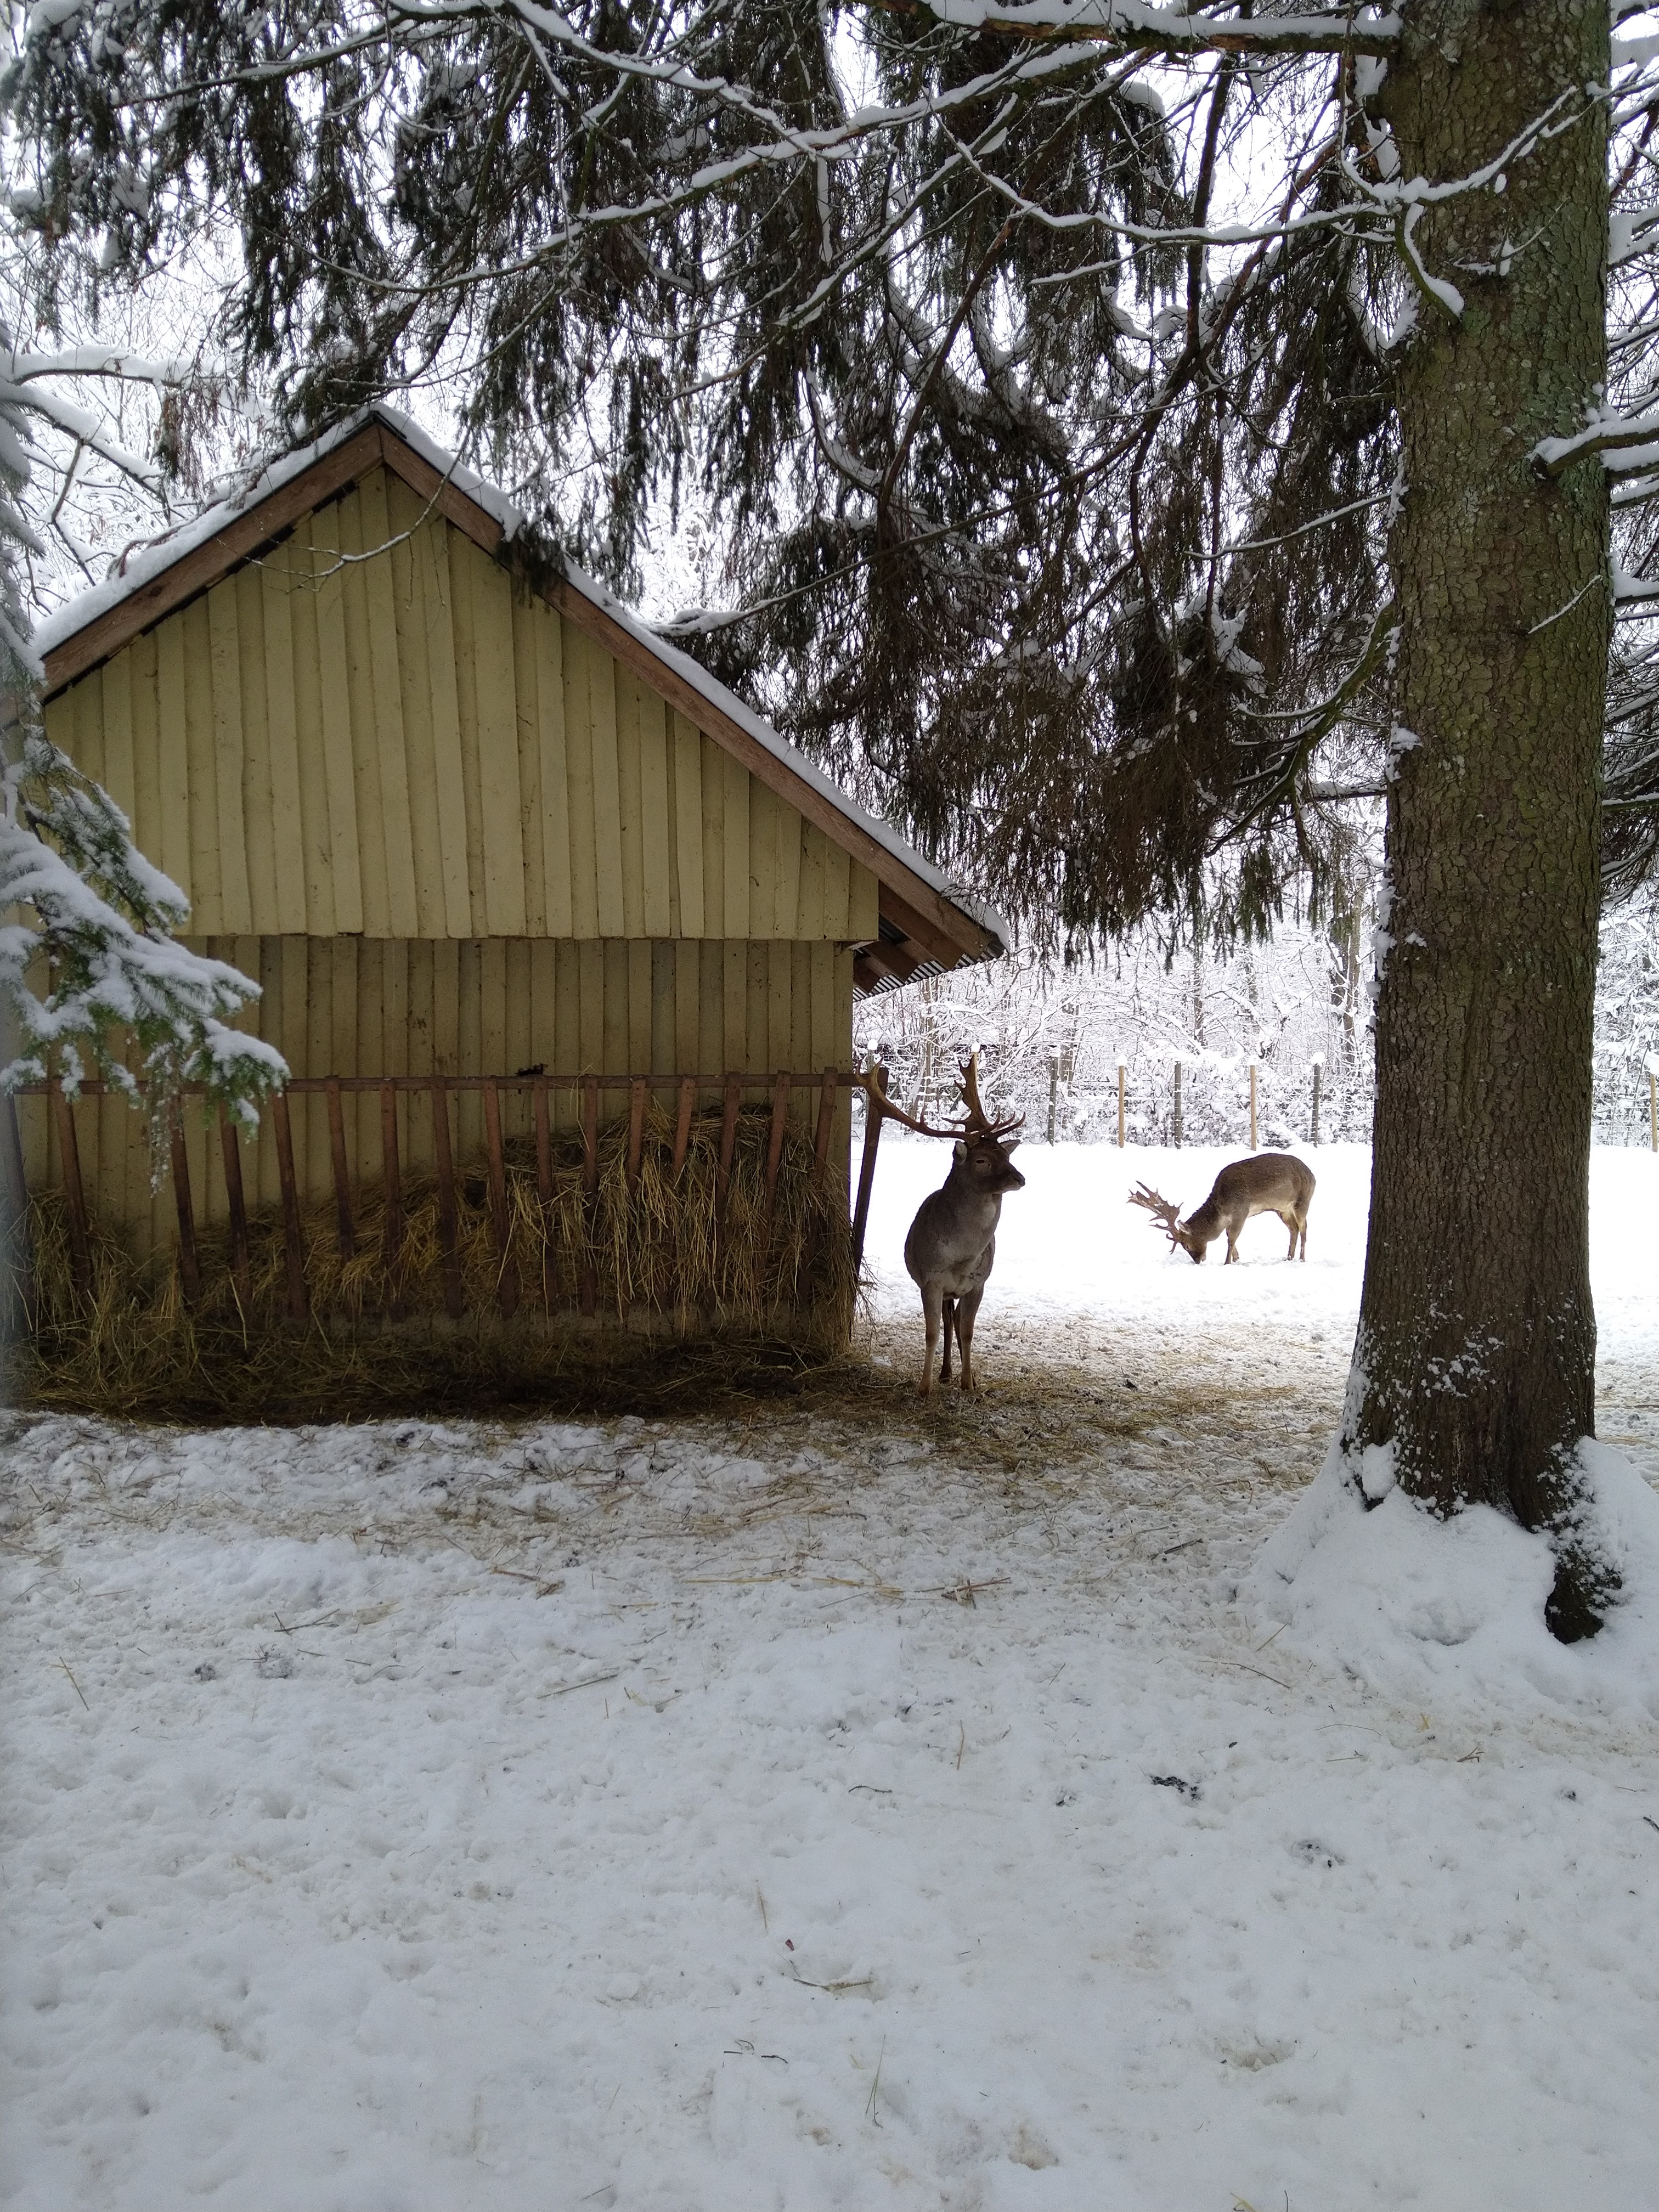
POLYGON ((387 469, 46 728, 204 936, 876 936, 867 869, 387 469))

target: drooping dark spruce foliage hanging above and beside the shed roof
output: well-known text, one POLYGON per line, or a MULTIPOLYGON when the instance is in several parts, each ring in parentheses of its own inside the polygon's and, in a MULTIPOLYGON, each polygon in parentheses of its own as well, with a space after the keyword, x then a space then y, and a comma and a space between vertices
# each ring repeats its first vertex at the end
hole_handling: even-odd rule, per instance
MULTIPOLYGON (((1420 301, 1365 217, 1380 73, 1294 22, 1274 51, 1276 7, 1254 53, 1181 53, 1168 11, 1161 55, 945 13, 62 0, 4 80, 38 305, 230 223, 219 338, 294 429, 440 385, 622 591, 664 502, 710 502, 726 606, 672 635, 1040 942, 1259 933, 1296 876, 1318 911, 1391 772, 1420 301)), ((1613 666, 1615 889, 1659 838, 1650 628, 1613 666)))

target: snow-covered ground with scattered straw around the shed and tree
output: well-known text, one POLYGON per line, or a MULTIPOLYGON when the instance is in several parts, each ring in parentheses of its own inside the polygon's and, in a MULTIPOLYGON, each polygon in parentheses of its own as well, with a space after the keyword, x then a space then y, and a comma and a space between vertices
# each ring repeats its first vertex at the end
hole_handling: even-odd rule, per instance
MULTIPOLYGON (((1657 2205, 1659 1509, 1608 1478, 1573 1652, 1495 1515, 1310 1566, 1367 1155, 1199 1270, 1124 1194, 1221 1157, 1022 1150, 973 1405, 907 1391, 889 1137, 852 1389, 11 1416, 0 2203, 1657 2205)), ((1659 1482, 1646 1152, 1595 1287, 1659 1482)))

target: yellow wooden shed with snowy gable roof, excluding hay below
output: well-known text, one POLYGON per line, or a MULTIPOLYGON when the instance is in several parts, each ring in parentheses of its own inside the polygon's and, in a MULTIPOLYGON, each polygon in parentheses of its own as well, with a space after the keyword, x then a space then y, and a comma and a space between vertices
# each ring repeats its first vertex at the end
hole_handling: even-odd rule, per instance
POLYGON ((77 1183, 71 1212, 150 1270, 177 1252, 186 1292, 195 1241, 246 1270, 246 1219, 285 1214, 299 1312, 294 1221, 332 1208, 349 1254, 372 1201, 473 1172, 533 1283, 502 1164, 540 1159, 546 1206, 560 1133, 593 1188, 597 1130, 630 1124, 633 1188, 646 1126, 679 1175, 692 1124, 743 1106, 774 1106, 770 1183, 794 1130, 845 1217, 854 993, 1000 951, 993 914, 599 586, 538 571, 500 493, 389 409, 42 646, 51 737, 186 891, 190 942, 259 980, 246 1022, 292 1073, 257 1137, 186 1113, 159 1183, 122 1102, 18 1102, 29 1190, 77 1183))

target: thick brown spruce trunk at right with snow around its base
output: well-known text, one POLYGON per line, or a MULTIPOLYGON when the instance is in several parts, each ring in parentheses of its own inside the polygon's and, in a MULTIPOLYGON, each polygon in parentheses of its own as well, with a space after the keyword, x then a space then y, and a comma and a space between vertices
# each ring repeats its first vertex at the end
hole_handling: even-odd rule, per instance
POLYGON ((1422 299, 1398 405, 1407 495, 1391 940, 1376 1018, 1376 1152, 1347 1444, 1394 1444, 1442 1513, 1484 1502, 1557 1553, 1548 1619, 1595 1632, 1610 1571, 1575 1528, 1595 1433, 1590 1024, 1608 495, 1546 482, 1544 436, 1606 380, 1606 0, 1416 0, 1378 102, 1402 177, 1491 161, 1564 93, 1571 128, 1502 195, 1431 208, 1416 243, 1462 316, 1422 299))

